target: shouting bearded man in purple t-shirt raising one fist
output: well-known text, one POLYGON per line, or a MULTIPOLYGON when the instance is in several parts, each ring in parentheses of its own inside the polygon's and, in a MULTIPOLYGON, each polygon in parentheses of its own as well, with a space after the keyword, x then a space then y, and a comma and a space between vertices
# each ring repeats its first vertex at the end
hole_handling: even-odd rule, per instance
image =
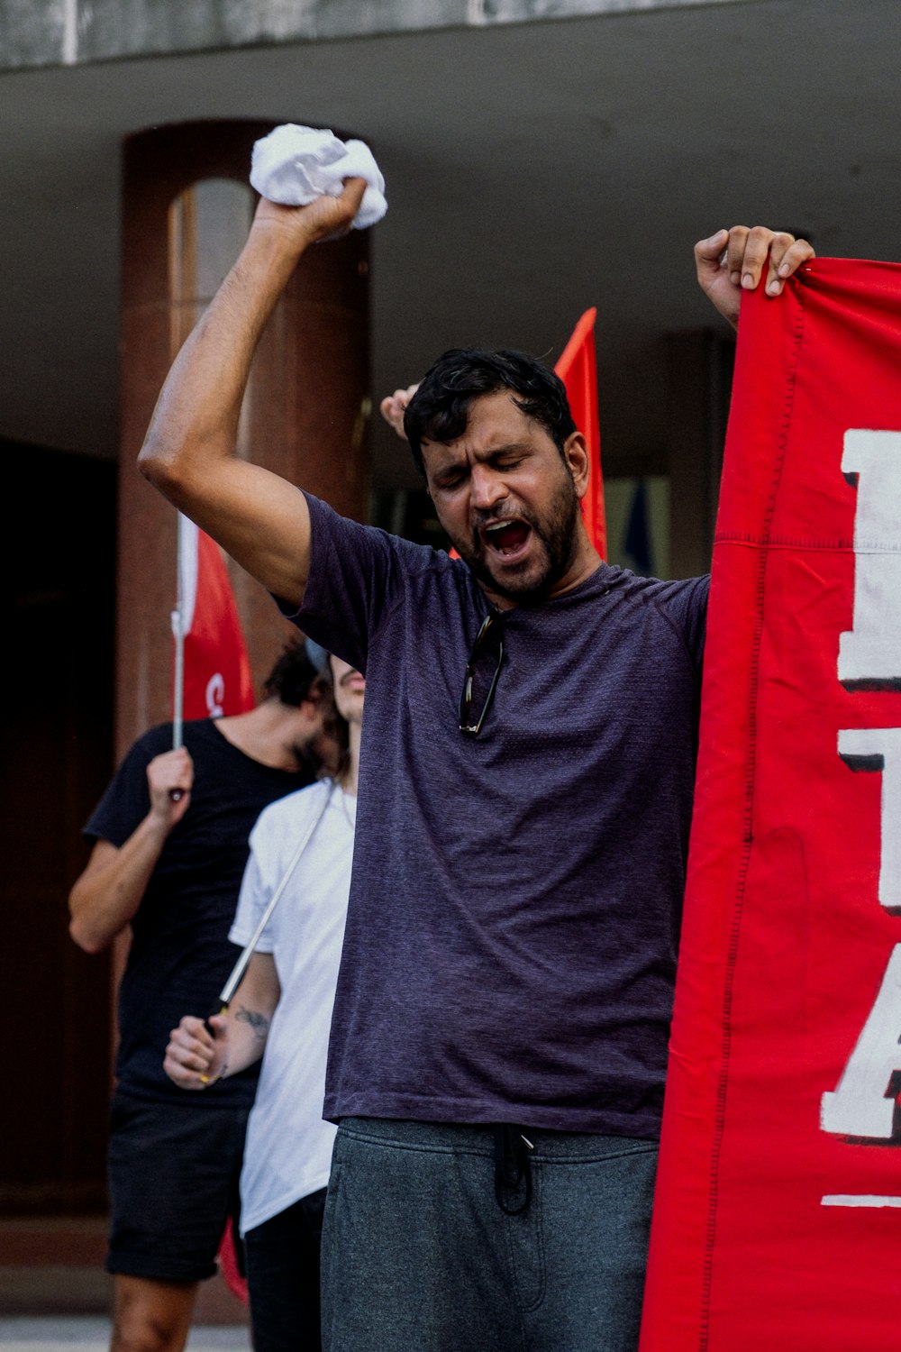
MULTIPOLYGON (((634 1352, 692 811, 706 580, 604 564, 585 441, 517 353, 446 353, 405 433, 459 558, 235 454, 251 357, 362 183, 262 201, 166 381, 147 477, 366 673, 326 1115, 328 1352, 634 1352)), ((810 247, 696 249, 735 320, 810 247)))

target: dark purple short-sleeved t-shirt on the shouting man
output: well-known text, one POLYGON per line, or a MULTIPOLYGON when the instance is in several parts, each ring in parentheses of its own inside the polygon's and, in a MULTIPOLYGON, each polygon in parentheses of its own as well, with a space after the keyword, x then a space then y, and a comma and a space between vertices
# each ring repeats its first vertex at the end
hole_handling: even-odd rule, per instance
POLYGON ((466 565, 308 500, 293 618, 366 675, 326 1117, 655 1137, 708 580, 601 565, 505 611, 471 738, 466 565))

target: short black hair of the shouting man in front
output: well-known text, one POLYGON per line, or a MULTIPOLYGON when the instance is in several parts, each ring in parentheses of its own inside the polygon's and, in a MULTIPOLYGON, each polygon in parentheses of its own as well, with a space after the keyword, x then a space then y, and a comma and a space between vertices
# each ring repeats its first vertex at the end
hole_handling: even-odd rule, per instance
POLYGON ((519 396, 516 407, 534 418, 563 454, 566 438, 577 429, 559 376, 524 352, 451 347, 426 373, 404 414, 404 433, 423 476, 423 441, 446 445, 462 437, 473 400, 497 389, 519 396))

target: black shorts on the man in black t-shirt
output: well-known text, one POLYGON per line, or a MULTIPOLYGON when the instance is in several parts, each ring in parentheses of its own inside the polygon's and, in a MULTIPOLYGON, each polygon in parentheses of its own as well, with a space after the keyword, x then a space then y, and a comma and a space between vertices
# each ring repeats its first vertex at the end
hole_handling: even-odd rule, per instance
MULTIPOLYGON (((116 1091, 109 1109, 107 1271, 200 1282, 216 1271, 250 1109, 155 1103, 116 1091)), ((236 1245, 240 1248, 240 1245, 236 1245)))

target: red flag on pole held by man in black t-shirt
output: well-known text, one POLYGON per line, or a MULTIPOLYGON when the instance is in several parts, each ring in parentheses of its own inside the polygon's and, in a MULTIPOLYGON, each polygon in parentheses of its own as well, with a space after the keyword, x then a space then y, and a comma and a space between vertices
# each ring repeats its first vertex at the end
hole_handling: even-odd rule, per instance
POLYGON ((178 550, 185 635, 184 718, 254 707, 254 683, 238 607, 219 545, 182 516, 178 550))

